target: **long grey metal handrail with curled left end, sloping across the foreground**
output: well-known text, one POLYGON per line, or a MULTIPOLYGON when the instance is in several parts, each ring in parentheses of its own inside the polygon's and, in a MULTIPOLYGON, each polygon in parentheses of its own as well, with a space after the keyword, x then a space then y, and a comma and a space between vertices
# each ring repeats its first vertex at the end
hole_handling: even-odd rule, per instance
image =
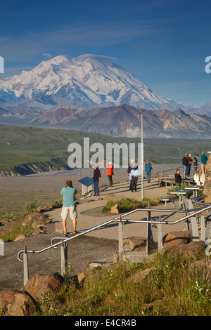
MULTIPOLYGON (((50 246, 47 246, 46 248, 40 249, 40 250, 37 250, 37 251, 36 250, 27 250, 27 253, 41 253, 41 252, 47 251, 49 249, 52 249, 52 248, 57 247, 60 244, 64 244, 64 243, 70 241, 71 239, 75 239, 75 238, 77 238, 79 236, 85 235, 88 232, 91 232, 93 230, 96 230, 96 229, 98 229, 100 227, 103 227, 103 226, 108 225, 109 223, 113 223, 115 221, 121 221, 122 223, 126 223, 126 222, 131 222, 131 223, 148 223, 148 224, 149 223, 153 223, 153 224, 156 224, 156 223, 157 224, 160 224, 160 223, 162 223, 162 224, 165 224, 165 225, 174 225, 175 223, 179 223, 179 222, 181 222, 183 220, 186 220, 188 218, 191 218, 193 216, 196 216, 198 213, 205 212, 208 209, 211 209, 211 205, 210 204, 206 204, 206 205, 208 205, 208 206, 205 207, 205 208, 200 208, 200 209, 197 208, 197 209, 188 209, 188 210, 185 210, 186 213, 187 212, 188 213, 189 212, 193 212, 193 213, 189 214, 188 216, 184 216, 183 218, 180 218, 178 220, 174 220, 174 221, 164 221, 164 220, 162 220, 162 221, 160 221, 160 220, 129 220, 129 219, 126 219, 125 220, 125 219, 122 219, 123 217, 128 216, 129 214, 132 214, 132 213, 134 213, 136 211, 153 211, 153 212, 155 212, 155 211, 159 211, 159 212, 170 212, 170 211, 172 211, 172 210, 168 210, 168 209, 135 209, 135 210, 129 211, 127 213, 124 213, 121 216, 117 216, 116 218, 113 218, 111 220, 108 220, 105 223, 101 223, 100 225, 96 225, 94 227, 91 227, 88 230, 84 230, 84 232, 80 232, 79 234, 77 234, 75 236, 72 236, 72 237, 53 237, 53 239, 61 239, 61 241, 58 242, 58 243, 55 243, 55 244, 51 244, 50 246), (196 210, 198 210, 198 211, 196 211, 196 210)), ((175 210, 174 213, 184 213, 184 210, 175 210)), ((52 242, 53 239, 51 239, 51 242, 52 242)), ((18 260, 21 263, 23 263, 23 260, 20 259, 20 253, 25 253, 25 249, 20 250, 18 252, 18 260)))

